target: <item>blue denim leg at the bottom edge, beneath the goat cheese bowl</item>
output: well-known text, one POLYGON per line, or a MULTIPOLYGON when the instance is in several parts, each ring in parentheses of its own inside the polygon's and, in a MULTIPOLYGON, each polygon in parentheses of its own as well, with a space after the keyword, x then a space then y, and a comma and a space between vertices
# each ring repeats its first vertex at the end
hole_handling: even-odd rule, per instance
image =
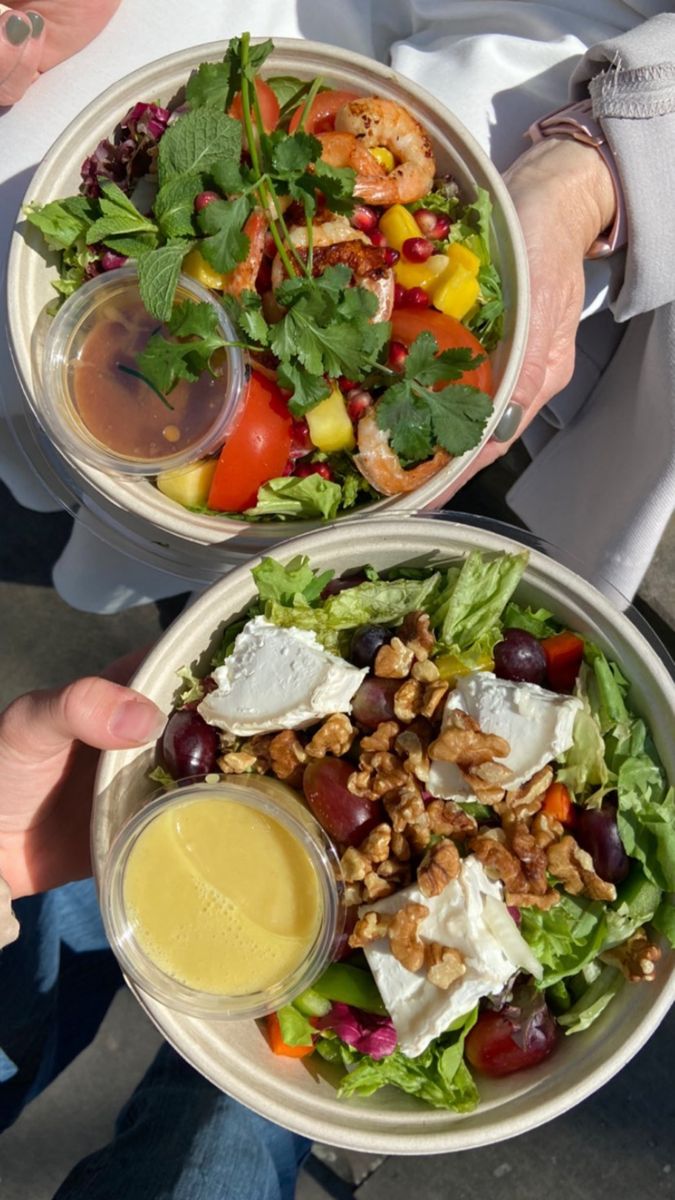
POLYGON ((292 1200, 309 1150, 165 1044, 113 1140, 71 1171, 54 1200, 292 1200))

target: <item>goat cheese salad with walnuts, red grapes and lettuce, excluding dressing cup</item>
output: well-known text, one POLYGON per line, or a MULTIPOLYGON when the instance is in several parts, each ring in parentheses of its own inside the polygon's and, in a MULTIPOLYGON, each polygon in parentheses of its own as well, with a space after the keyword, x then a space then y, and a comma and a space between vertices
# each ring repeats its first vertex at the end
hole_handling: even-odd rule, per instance
POLYGON ((675 791, 617 664, 519 602, 526 563, 263 559, 211 673, 180 672, 153 778, 275 775, 336 845, 335 959, 265 1032, 340 1096, 470 1111, 675 944, 675 791))

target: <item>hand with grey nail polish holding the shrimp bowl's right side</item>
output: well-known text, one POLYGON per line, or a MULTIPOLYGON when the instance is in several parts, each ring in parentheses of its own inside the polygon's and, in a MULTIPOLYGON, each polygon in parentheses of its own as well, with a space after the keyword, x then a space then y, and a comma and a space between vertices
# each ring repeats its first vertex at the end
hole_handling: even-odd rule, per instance
POLYGON ((593 146, 546 138, 516 158, 504 181, 520 218, 530 266, 527 344, 512 403, 521 409, 506 440, 485 444, 461 484, 506 454, 572 378, 584 305, 584 258, 611 224, 615 193, 593 146))

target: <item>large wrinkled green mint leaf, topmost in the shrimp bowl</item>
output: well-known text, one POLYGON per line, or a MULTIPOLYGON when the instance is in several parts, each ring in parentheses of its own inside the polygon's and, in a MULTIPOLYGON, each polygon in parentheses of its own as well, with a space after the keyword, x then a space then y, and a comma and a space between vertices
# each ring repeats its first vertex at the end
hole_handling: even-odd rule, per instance
MULTIPOLYGON (((208 172, 221 160, 239 162, 241 126, 234 118, 208 106, 169 125, 159 150, 160 186, 172 175, 208 172)), ((207 210, 204 210, 207 211, 207 210)))

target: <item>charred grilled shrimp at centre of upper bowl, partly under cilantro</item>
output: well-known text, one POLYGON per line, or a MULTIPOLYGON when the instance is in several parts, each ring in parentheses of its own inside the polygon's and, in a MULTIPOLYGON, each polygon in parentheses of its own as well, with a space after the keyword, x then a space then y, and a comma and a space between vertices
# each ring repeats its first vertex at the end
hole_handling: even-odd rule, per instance
MULTIPOLYGON (((291 241, 297 250, 306 250, 306 226, 291 229, 291 241)), ((371 246, 360 229, 353 229, 346 217, 333 217, 313 226, 312 274, 321 275, 327 266, 345 263, 354 275, 359 287, 372 292, 377 308, 372 322, 389 320, 394 307, 394 272, 384 265, 384 256, 378 246, 371 246)), ((276 290, 283 282, 283 263, 279 254, 271 266, 271 286, 276 290)))

